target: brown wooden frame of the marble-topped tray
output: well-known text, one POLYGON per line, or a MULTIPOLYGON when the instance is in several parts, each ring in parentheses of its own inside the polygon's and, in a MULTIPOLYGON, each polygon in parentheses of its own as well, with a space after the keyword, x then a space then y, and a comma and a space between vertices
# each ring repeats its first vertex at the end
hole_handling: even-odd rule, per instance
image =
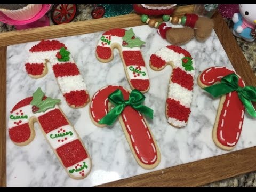
MULTIPOLYGON (((192 13, 193 5, 177 7, 174 15, 192 13)), ((161 21, 161 18, 157 18, 161 21)), ((236 72, 241 75, 246 85, 256 86, 256 76, 238 47, 226 22, 217 12, 213 16, 214 30, 226 51, 236 72)), ((6 186, 6 47, 7 45, 33 42, 41 39, 66 37, 142 25, 136 14, 119 17, 95 19, 66 23, 62 25, 12 31, 0 34, 0 186, 6 186), (75 30, 74 30, 75 29, 75 30)), ((196 162, 182 164, 135 177, 106 183, 103 186, 200 186, 206 183, 234 177, 256 170, 254 160, 256 147, 251 147, 225 155, 215 156, 196 162)))

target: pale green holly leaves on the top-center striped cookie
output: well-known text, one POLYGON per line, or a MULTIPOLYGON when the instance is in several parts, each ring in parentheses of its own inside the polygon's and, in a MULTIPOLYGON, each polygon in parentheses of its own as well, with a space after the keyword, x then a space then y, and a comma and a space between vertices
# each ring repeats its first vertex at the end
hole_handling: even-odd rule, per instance
POLYGON ((139 38, 135 38, 132 28, 125 31, 125 35, 122 37, 124 47, 141 47, 145 42, 141 41, 139 38))

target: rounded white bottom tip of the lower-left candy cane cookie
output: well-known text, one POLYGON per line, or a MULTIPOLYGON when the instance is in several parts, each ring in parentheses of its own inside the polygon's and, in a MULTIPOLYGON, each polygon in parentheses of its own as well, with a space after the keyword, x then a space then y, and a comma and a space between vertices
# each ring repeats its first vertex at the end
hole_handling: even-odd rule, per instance
MULTIPOLYGON (((71 170, 73 170, 73 173, 70 173, 72 174, 74 177, 83 177, 82 176, 82 173, 84 175, 86 175, 89 171, 90 171, 90 167, 91 167, 91 161, 89 158, 86 158, 84 159, 83 161, 81 162, 78 162, 76 163, 75 165, 72 165, 70 167, 67 167, 67 171, 70 173, 71 170), (82 165, 82 167, 84 166, 84 162, 85 162, 85 165, 87 165, 87 168, 84 167, 83 170, 79 170, 79 168, 81 168, 80 165, 82 165), (77 167, 77 168, 76 168, 77 167), (83 172, 84 171, 84 172, 83 172)), ((72 172, 72 171, 71 171, 72 172)))

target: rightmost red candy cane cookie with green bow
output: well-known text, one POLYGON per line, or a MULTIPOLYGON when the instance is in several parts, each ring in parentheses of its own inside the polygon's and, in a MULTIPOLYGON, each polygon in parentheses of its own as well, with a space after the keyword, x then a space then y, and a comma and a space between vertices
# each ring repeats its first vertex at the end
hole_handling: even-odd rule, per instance
MULTIPOLYGON (((226 67, 205 69, 199 74, 197 82, 213 97, 221 96, 212 130, 212 138, 219 148, 224 150, 233 149, 242 131, 245 113, 244 97, 246 100, 251 97, 251 100, 255 101, 256 89, 252 86, 245 86, 242 78, 226 67)), ((251 116, 256 117, 255 109, 250 101, 247 101, 246 110, 251 116)))

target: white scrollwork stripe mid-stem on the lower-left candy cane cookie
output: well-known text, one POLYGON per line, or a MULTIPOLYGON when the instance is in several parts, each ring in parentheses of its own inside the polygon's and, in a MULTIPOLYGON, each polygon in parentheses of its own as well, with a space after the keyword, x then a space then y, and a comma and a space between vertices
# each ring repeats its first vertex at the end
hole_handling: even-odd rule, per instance
POLYGON ((57 149, 68 142, 78 139, 76 132, 74 131, 73 127, 70 125, 61 126, 57 129, 50 131, 49 133, 46 134, 46 138, 51 144, 53 149, 57 149), (63 136, 58 137, 58 135, 63 135, 63 136))

